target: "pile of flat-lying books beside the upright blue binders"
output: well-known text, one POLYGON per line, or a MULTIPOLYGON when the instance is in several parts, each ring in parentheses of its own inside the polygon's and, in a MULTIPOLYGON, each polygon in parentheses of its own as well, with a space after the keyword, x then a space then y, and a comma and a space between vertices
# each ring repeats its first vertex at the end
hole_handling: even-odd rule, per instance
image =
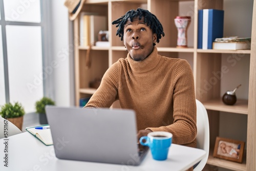
POLYGON ((251 38, 250 37, 222 37, 216 38, 212 44, 212 49, 221 50, 245 50, 250 49, 251 38))

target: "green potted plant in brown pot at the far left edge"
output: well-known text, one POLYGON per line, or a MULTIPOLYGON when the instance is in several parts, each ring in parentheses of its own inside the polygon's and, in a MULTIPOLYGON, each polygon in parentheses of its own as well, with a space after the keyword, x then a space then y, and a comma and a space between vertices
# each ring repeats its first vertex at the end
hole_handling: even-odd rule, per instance
POLYGON ((0 115, 16 125, 19 130, 22 130, 25 111, 21 103, 15 102, 14 104, 6 103, 2 105, 0 115))

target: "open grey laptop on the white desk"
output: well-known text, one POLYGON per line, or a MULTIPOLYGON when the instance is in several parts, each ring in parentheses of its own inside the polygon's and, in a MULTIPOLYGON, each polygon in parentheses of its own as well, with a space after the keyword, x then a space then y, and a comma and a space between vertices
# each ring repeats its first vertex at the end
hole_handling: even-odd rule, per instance
POLYGON ((133 110, 46 106, 59 159, 139 165, 147 147, 137 144, 133 110))

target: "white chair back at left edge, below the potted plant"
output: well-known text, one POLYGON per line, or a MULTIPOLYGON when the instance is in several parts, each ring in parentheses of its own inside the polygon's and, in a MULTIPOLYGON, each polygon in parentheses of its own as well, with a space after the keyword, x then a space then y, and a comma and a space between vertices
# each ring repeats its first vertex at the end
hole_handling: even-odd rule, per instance
MULTIPOLYGON (((1 138, 5 138, 5 132, 4 132, 4 126, 5 126, 5 121, 7 121, 6 119, 2 118, 0 116, 0 139, 1 138)), ((7 130, 7 133, 8 133, 8 137, 12 136, 12 135, 16 135, 16 134, 19 134, 19 133, 22 133, 22 131, 20 131, 18 129, 17 126, 15 126, 12 122, 8 121, 8 130, 7 130)))

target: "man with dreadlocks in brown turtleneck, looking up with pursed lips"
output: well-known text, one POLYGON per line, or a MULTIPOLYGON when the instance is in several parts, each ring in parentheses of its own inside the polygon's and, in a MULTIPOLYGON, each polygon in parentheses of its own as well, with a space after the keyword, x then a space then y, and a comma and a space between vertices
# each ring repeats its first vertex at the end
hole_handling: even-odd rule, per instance
POLYGON ((138 139, 166 131, 173 143, 196 147, 196 98, 188 62, 158 54, 155 45, 164 32, 151 12, 130 10, 112 24, 129 53, 105 72, 84 108, 109 108, 119 100, 122 109, 136 112, 138 139))

